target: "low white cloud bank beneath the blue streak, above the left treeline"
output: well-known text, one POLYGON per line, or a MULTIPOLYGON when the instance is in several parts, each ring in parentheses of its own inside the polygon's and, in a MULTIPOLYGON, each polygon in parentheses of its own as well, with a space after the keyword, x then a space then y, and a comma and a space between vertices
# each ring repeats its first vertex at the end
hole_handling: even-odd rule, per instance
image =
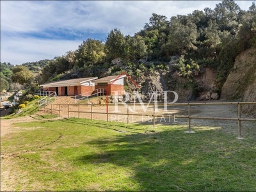
POLYGON ((45 59, 51 60, 67 51, 76 50, 79 44, 81 44, 80 41, 15 38, 1 42, 1 47, 4 47, 1 49, 1 62, 6 61, 17 65, 45 59))

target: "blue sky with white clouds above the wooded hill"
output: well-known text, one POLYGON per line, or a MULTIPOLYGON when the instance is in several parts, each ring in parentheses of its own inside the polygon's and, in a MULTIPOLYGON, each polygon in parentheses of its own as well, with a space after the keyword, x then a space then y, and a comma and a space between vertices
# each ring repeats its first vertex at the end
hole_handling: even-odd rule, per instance
MULTIPOLYGON (((253 1, 235 1, 248 10, 253 1)), ((133 36, 152 13, 168 20, 221 1, 1 1, 1 63, 20 65, 62 56, 112 29, 133 36)))

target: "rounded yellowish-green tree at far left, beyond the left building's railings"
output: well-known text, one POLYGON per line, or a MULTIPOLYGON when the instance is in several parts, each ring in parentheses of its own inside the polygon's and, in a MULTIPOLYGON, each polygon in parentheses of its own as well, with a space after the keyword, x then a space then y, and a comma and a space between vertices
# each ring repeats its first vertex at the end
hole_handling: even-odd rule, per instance
POLYGON ((33 83, 33 74, 29 71, 27 67, 18 65, 13 67, 13 75, 11 77, 13 83, 26 84, 28 86, 33 83))

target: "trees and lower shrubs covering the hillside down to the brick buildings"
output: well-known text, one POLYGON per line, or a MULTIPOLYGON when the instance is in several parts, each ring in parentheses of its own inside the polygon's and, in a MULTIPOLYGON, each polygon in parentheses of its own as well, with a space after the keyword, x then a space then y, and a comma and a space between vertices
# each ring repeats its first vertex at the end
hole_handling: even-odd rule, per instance
POLYGON ((235 58, 251 47, 256 47, 255 3, 241 10, 234 1, 225 0, 214 9, 195 10, 170 19, 153 13, 133 36, 113 29, 104 42, 88 38, 75 51, 44 60, 40 67, 22 64, 36 71, 32 73, 34 79, 28 73, 26 78, 15 73, 11 80, 33 87, 59 79, 116 75, 125 70, 140 81, 142 90, 180 90, 184 98, 196 99, 205 91, 220 93, 235 58), (214 73, 214 85, 205 89, 198 78, 204 77, 207 70, 214 73), (152 79, 143 82, 148 74, 152 79))

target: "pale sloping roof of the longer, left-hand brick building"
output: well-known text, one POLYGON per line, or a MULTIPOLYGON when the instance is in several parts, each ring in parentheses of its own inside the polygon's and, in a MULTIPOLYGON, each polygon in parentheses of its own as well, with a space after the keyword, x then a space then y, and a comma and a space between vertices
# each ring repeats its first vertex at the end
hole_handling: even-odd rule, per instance
POLYGON ((43 87, 76 86, 76 85, 78 86, 78 85, 81 85, 81 83, 86 83, 88 81, 93 81, 95 79, 98 79, 98 77, 86 77, 86 78, 78 78, 78 79, 60 80, 60 81, 54 81, 52 83, 41 84, 40 86, 43 86, 43 87))

